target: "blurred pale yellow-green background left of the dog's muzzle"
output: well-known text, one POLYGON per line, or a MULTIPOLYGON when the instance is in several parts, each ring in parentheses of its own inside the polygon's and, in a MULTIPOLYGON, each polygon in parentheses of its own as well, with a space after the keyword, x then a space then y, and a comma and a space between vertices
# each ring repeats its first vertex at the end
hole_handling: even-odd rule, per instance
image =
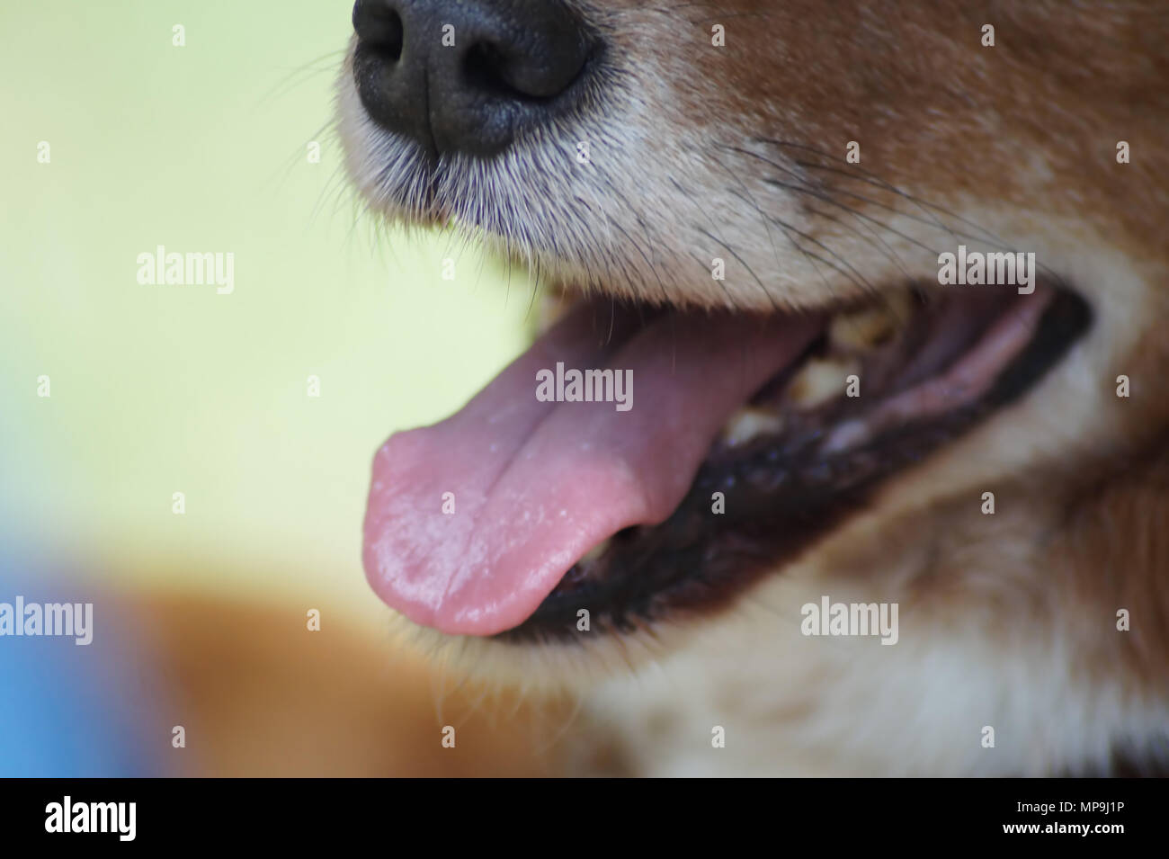
MULTIPOLYGON (((389 612, 360 564, 373 452, 459 407, 524 345, 523 276, 509 283, 450 236, 380 230, 354 201, 330 133, 351 8, 0 6, 2 540, 9 556, 164 607, 154 621, 193 660, 178 685, 196 697, 212 694, 193 687, 203 645, 166 612, 214 626, 237 608, 220 670, 248 647, 257 610, 297 647, 316 646, 306 607, 325 631, 344 617, 346 635, 386 644, 389 612), (234 254, 234 291, 138 283, 137 257, 157 245, 234 254)), ((357 651, 378 664, 354 639, 320 670, 344 671, 357 651)), ((257 659, 255 674, 282 657, 257 659)), ((248 688, 257 713, 286 708, 250 677, 216 694, 248 688)), ((345 683, 371 680, 353 667, 345 683)), ((226 741, 237 726, 216 718, 226 741)), ((284 754, 209 769, 321 766, 284 754)))

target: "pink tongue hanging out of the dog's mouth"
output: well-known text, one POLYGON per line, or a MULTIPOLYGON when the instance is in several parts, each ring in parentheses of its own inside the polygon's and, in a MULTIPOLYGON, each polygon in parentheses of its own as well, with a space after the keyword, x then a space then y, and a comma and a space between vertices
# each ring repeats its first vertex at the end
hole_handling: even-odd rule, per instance
POLYGON ((589 548, 666 519, 731 414, 818 331, 697 314, 634 327, 610 340, 608 311, 584 306, 458 414, 382 445, 364 550, 382 600, 448 633, 519 625, 589 548), (558 361, 632 370, 632 408, 539 402, 537 372, 558 361))

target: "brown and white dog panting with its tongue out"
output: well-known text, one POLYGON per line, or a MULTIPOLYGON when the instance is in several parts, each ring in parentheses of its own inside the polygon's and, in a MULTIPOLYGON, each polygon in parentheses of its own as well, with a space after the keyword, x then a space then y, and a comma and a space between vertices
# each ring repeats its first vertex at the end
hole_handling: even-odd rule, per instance
POLYGON ((367 577, 422 647, 580 695, 576 774, 1164 768, 1158 4, 353 22, 357 193, 556 318, 374 458, 367 577))

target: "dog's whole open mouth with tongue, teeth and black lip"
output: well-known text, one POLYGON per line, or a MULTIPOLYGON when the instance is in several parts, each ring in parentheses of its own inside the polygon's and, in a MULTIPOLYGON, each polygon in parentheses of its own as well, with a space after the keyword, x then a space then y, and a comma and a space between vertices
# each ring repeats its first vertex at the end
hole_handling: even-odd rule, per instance
POLYGON ((416 623, 506 640, 714 610, 1017 400, 1090 323, 1052 278, 790 314, 582 303, 379 451, 367 576, 416 623), (629 387, 597 374, 573 401, 572 369, 629 387))

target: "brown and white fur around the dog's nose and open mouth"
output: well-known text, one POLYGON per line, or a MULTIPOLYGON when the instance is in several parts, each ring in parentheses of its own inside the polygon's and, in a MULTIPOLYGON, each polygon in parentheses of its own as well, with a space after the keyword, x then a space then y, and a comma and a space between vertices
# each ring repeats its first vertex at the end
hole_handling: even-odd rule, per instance
POLYGON ((570 756, 628 771, 1051 774, 1104 770, 1116 753, 1164 763, 1162 5, 580 6, 622 85, 603 116, 509 153, 554 192, 535 201, 521 169, 492 180, 498 201, 525 202, 513 222, 456 193, 469 165, 451 166, 438 208, 393 205, 378 172, 389 144, 343 74, 350 168, 375 207, 456 215, 570 286, 740 309, 933 279, 959 242, 1031 250, 1095 323, 1022 402, 898 476, 721 616, 584 647, 458 642, 468 664, 599 690, 570 756), (714 23, 725 48, 711 47, 714 23), (980 44, 984 23, 994 48, 980 44), (581 168, 579 139, 593 144, 581 168), (859 165, 844 160, 850 140, 859 165), (1116 162, 1118 140, 1130 164, 1116 162), (726 284, 711 279, 712 257, 726 258, 726 284), (1129 399, 1115 395, 1118 374, 1129 399), (994 517, 980 514, 987 490, 994 517), (822 594, 899 602, 900 643, 803 638, 800 605, 822 594), (1119 609, 1132 631, 1116 630, 1119 609), (727 749, 711 749, 715 725, 727 749), (997 748, 981 748, 983 726, 997 748))

